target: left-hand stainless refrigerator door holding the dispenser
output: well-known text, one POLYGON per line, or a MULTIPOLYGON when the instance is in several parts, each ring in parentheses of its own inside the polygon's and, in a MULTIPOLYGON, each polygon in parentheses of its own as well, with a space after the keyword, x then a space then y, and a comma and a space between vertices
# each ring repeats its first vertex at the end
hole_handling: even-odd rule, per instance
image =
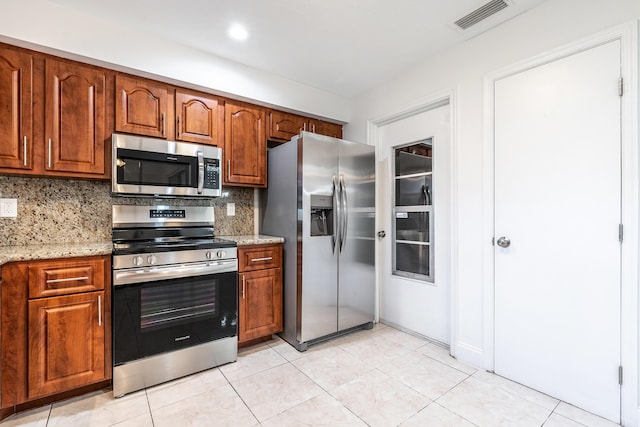
MULTIPOLYGON (((338 140, 305 132, 300 141, 302 188, 298 193, 298 206, 302 210, 298 227, 302 242, 302 281, 298 285, 302 289, 298 294, 297 338, 299 342, 307 342, 338 331, 338 250, 334 251, 333 240, 337 236, 335 233, 312 236, 310 228, 311 195, 332 197, 332 204, 336 201, 338 140)), ((340 206, 337 208, 341 211, 340 206)), ((334 224, 339 224, 337 219, 334 224)))

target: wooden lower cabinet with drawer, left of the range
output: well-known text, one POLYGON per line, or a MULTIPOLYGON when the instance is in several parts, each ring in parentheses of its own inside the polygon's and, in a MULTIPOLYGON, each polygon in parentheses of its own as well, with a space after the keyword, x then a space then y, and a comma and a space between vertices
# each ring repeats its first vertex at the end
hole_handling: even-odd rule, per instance
POLYGON ((2 266, 0 415, 111 378, 110 272, 108 255, 2 266))

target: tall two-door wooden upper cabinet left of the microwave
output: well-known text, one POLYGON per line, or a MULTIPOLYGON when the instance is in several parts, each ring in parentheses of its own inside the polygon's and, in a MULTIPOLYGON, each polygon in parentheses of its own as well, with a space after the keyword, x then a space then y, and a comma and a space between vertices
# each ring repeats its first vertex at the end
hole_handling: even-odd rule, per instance
POLYGON ((0 173, 109 178, 107 73, 0 45, 0 173))

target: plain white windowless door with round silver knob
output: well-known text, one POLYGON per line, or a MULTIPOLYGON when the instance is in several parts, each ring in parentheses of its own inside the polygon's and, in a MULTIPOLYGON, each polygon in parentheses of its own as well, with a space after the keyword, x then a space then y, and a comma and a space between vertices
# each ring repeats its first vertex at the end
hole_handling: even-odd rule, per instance
POLYGON ((616 422, 620 61, 613 41, 495 84, 495 372, 616 422))

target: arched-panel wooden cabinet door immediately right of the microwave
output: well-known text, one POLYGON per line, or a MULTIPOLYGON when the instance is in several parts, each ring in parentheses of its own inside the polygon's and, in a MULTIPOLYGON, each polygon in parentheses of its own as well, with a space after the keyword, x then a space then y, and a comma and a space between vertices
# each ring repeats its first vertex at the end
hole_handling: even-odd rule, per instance
POLYGON ((255 105, 225 103, 224 184, 267 186, 265 116, 255 105))

